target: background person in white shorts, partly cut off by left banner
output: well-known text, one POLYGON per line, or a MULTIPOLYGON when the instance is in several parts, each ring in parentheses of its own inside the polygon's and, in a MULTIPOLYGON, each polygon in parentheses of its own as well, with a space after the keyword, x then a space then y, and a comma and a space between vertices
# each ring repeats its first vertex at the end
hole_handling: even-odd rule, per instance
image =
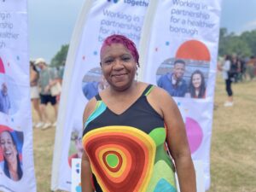
POLYGON ((39 121, 35 125, 36 128, 40 128, 44 125, 43 119, 42 119, 42 113, 39 108, 39 90, 38 90, 38 79, 39 79, 39 73, 36 69, 34 62, 30 61, 30 98, 32 101, 32 106, 35 109, 35 111, 38 113, 39 121))

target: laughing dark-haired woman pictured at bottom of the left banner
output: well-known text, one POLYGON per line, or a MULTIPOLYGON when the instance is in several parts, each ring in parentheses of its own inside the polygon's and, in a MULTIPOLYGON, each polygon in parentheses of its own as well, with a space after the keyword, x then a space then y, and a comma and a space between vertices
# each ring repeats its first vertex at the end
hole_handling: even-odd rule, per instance
POLYGON ((9 131, 0 134, 0 143, 3 151, 3 172, 14 181, 19 181, 22 177, 19 153, 15 140, 9 131))

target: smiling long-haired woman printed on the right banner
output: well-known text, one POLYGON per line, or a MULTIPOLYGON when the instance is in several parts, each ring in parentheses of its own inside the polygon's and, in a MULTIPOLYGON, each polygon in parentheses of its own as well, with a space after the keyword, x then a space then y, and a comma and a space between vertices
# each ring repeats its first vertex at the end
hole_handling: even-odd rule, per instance
POLYGON ((203 73, 200 70, 195 70, 192 73, 189 83, 189 95, 192 98, 206 97, 206 83, 203 73))

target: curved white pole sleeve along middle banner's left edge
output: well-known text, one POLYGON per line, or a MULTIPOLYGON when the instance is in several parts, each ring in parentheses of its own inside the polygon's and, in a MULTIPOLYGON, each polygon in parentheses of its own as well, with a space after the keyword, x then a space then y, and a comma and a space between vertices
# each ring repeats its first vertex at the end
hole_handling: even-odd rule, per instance
POLYGON ((79 14, 79 19, 74 27, 73 35, 69 44, 69 49, 67 53, 67 61, 65 64, 65 72, 63 77, 61 101, 58 111, 57 126, 55 131, 55 148, 52 163, 51 172, 51 190, 58 189, 59 177, 60 177, 60 162, 61 162, 61 146, 63 142, 63 131, 64 122, 67 119, 67 101, 68 101, 68 90, 70 88, 71 79, 73 76, 73 68, 76 60, 76 53, 79 49, 80 40, 83 34, 83 25, 87 20, 88 13, 90 11, 92 0, 85 0, 84 6, 79 14))

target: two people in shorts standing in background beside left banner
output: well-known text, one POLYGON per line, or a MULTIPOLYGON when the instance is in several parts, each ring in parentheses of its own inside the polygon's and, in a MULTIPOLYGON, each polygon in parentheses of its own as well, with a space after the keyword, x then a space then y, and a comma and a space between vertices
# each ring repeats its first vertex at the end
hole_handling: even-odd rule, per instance
POLYGON ((56 95, 52 93, 52 88, 62 82, 63 68, 59 70, 50 68, 43 58, 30 61, 30 85, 32 107, 38 114, 38 122, 33 123, 36 128, 47 129, 56 125, 58 102, 61 92, 56 95), (46 106, 50 104, 55 111, 54 120, 49 119, 46 106))

